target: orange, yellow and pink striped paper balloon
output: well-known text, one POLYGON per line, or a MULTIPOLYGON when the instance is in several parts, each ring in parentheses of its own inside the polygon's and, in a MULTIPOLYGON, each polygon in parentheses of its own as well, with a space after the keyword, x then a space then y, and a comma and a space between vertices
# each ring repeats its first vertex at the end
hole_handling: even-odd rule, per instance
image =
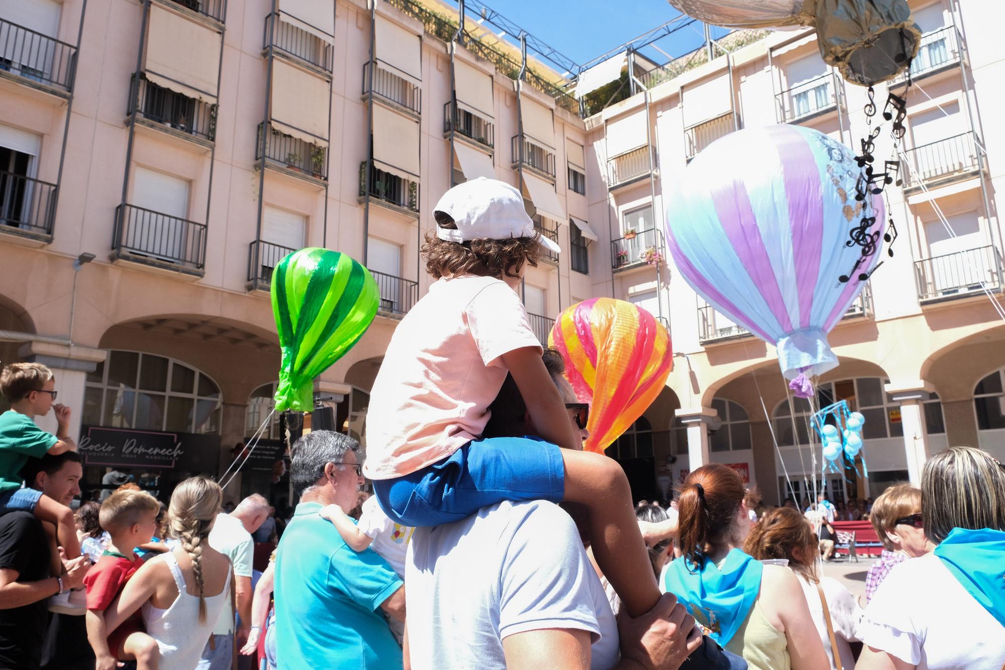
POLYGON ((549 345, 562 353, 566 377, 590 403, 587 451, 603 452, 656 399, 673 369, 670 334, 631 302, 595 297, 555 321, 549 345))

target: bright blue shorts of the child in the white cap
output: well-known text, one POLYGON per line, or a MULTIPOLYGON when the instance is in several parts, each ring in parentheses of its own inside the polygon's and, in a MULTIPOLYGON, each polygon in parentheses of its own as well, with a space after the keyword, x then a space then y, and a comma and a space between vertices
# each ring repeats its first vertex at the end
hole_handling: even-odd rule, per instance
POLYGON ((561 502, 565 465, 556 445, 536 438, 472 440, 409 475, 374 480, 374 493, 395 523, 440 525, 504 500, 561 502))

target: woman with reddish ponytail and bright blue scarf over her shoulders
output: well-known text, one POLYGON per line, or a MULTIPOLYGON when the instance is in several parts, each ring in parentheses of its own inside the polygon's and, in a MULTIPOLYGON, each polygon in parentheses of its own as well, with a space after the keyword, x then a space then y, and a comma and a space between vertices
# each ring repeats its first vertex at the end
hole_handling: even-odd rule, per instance
POLYGON ((680 547, 663 587, 751 670, 819 670, 829 664, 798 578, 741 550, 750 517, 740 475, 725 465, 691 472, 680 489, 680 547))

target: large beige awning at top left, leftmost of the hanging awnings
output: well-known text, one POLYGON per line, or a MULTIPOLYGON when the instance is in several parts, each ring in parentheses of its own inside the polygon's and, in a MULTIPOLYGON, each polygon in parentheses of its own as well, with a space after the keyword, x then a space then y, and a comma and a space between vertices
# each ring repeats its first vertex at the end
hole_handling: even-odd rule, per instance
POLYGON ((187 97, 215 102, 220 41, 215 30, 151 5, 144 60, 147 78, 187 97))

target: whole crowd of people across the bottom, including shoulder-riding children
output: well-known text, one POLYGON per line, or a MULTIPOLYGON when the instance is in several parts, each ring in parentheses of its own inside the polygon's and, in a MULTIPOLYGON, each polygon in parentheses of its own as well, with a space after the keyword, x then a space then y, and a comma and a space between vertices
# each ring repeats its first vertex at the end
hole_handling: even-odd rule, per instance
POLYGON ((710 464, 671 504, 633 504, 617 463, 582 450, 590 407, 517 296, 545 243, 519 191, 474 180, 435 218, 437 281, 386 352, 367 457, 342 433, 299 437, 288 514, 257 494, 227 506, 195 476, 166 507, 119 482, 74 515, 82 469, 52 373, 4 369, 0 670, 1005 665, 1005 467, 989 454, 946 449, 920 489, 855 501, 883 544, 859 603, 821 574, 849 513, 823 495, 758 514, 710 464), (50 409, 56 434, 34 423, 50 409))

